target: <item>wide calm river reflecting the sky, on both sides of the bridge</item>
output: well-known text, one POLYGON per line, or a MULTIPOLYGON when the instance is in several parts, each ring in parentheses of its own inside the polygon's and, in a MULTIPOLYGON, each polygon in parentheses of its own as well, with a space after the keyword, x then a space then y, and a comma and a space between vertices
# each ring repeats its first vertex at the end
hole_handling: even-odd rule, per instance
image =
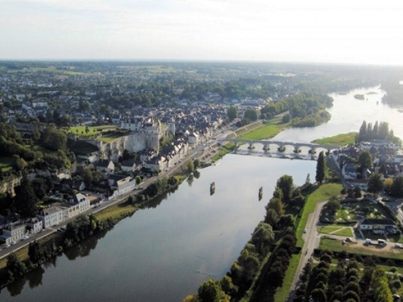
MULTIPOLYGON (((363 120, 389 122, 403 137, 402 113, 382 105, 382 95, 376 87, 333 94, 327 124, 289 129, 276 139, 307 142, 358 131, 363 120), (355 94, 367 100, 356 100, 355 94)), ((308 173, 314 179, 315 166, 315 161, 229 154, 153 207, 3 289, 0 301, 181 301, 206 279, 229 270, 263 219, 276 180, 289 174, 300 185, 308 173), (216 190, 210 196, 213 181, 216 190)))

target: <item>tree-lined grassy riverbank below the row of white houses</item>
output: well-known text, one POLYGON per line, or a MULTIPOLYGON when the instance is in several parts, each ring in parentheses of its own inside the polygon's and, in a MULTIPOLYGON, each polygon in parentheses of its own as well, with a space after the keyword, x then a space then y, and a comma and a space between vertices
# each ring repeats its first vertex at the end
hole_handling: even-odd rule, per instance
POLYGON ((161 202, 168 192, 174 192, 187 177, 188 175, 181 174, 157 180, 149 185, 149 187, 154 185, 157 190, 148 190, 149 187, 147 187, 144 190, 145 198, 139 199, 138 195, 133 194, 122 202, 94 214, 81 214, 67 224, 65 231, 55 232, 40 240, 35 240, 30 245, 2 258, 0 260, 0 289, 25 277, 26 274, 38 269, 41 265, 53 262, 56 257, 62 255, 63 252, 68 252, 82 240, 112 228, 116 223, 135 214, 137 210, 155 207, 156 200, 157 203, 161 202), (37 256, 33 255, 31 249, 33 245, 37 247, 37 256), (13 265, 9 265, 9 261, 12 261, 13 265))

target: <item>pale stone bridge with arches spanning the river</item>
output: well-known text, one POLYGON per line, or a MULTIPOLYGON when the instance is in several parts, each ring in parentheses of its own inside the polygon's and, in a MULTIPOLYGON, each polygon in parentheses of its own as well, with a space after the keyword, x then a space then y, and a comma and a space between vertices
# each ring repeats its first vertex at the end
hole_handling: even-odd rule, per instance
POLYGON ((239 146, 239 144, 248 144, 248 149, 254 149, 254 144, 262 144, 263 150, 270 150, 270 145, 276 145, 277 150, 280 152, 285 151, 285 146, 293 146, 294 152, 299 153, 301 151, 301 147, 307 147, 310 149, 310 153, 316 153, 317 149, 325 149, 327 151, 331 151, 334 149, 339 149, 339 146, 323 146, 320 144, 310 144, 310 143, 298 143, 295 141, 273 141, 270 139, 217 139, 218 143, 223 142, 232 142, 235 144, 235 148, 239 146))

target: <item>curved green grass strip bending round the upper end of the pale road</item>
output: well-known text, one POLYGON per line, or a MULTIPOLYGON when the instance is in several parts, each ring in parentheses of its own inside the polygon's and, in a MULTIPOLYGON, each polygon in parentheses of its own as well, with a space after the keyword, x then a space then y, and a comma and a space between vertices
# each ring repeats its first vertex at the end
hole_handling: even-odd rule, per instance
POLYGON ((297 236, 297 246, 302 248, 304 245, 304 240, 302 240, 302 233, 304 231, 305 225, 307 224, 308 215, 312 213, 319 202, 328 200, 330 197, 339 195, 343 186, 339 183, 325 183, 317 188, 314 192, 310 194, 305 203, 304 210, 302 211, 300 222, 298 223, 297 231, 295 235, 297 236))

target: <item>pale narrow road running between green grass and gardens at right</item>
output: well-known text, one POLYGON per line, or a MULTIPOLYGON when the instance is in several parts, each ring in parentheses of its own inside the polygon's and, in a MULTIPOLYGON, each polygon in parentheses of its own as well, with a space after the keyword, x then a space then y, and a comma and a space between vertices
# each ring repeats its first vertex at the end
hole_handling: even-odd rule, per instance
POLYGON ((305 243, 301 250, 301 258, 300 263, 298 264, 297 271, 295 272, 293 284, 290 288, 290 295, 288 296, 288 301, 293 301, 295 289, 297 289, 298 281, 300 279, 300 274, 302 273, 302 269, 304 269, 307 261, 310 259, 311 255, 314 252, 314 249, 319 246, 319 233, 317 232, 317 223, 319 221, 319 214, 322 211, 322 208, 325 202, 319 202, 313 213, 308 216, 307 224, 305 228, 307 229, 307 233, 302 235, 302 239, 304 239, 305 243))

